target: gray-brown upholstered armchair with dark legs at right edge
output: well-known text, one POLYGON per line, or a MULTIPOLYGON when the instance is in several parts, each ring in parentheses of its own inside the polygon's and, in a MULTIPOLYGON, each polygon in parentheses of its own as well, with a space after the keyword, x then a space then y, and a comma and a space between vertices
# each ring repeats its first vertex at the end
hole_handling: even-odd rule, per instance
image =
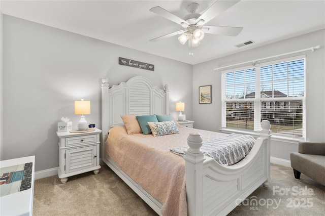
POLYGON ((298 152, 291 153, 290 160, 296 179, 300 179, 302 172, 325 185, 325 143, 299 142, 298 152))

